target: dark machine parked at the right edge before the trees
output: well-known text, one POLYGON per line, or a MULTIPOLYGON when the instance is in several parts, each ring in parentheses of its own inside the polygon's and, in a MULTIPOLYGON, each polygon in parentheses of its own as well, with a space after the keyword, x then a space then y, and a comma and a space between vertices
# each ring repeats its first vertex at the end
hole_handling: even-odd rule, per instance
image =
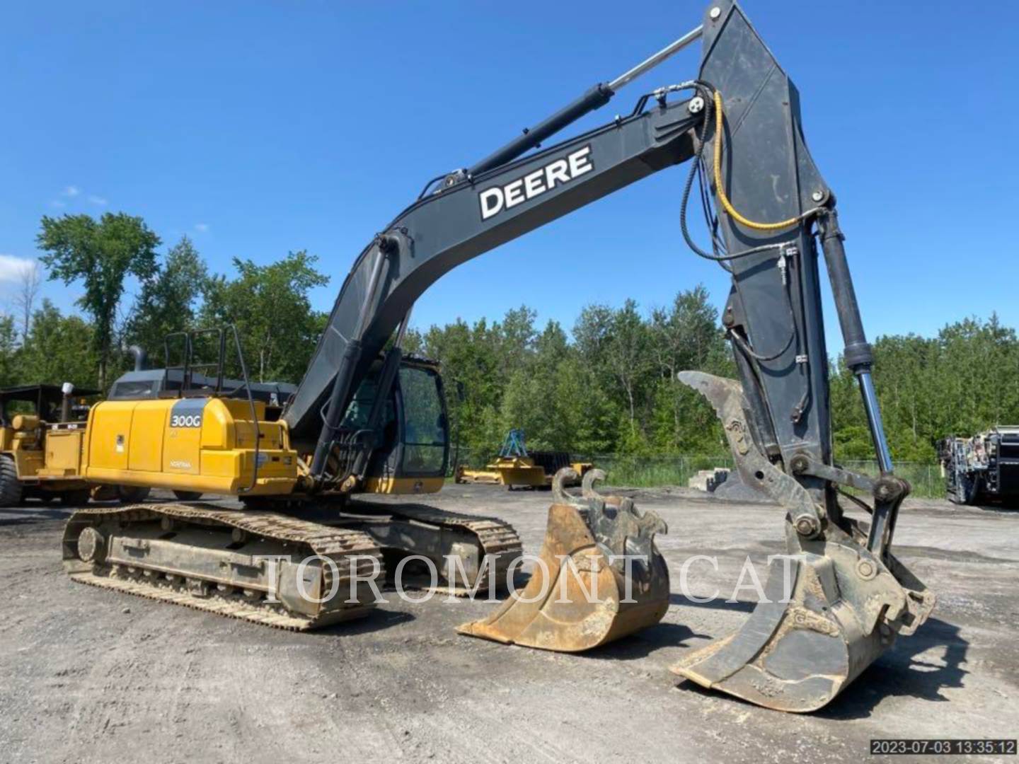
POLYGON ((956 504, 1019 502, 1019 426, 937 441, 945 493, 956 504))

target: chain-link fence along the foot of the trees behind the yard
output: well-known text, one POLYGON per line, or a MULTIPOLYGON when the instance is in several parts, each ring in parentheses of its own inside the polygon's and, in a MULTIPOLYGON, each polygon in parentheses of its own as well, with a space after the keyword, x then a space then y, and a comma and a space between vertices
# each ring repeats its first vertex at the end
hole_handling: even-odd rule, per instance
MULTIPOLYGON (((629 486, 633 488, 654 488, 657 486, 686 486, 687 481, 700 470, 714 468, 733 469, 733 457, 730 454, 716 456, 696 455, 632 455, 623 453, 575 453, 575 461, 590 461, 595 467, 604 470, 606 481, 613 486, 629 486)), ((493 460, 492 454, 481 454, 469 449, 460 449, 459 460, 455 449, 450 455, 450 477, 455 465, 472 469, 481 469, 493 460)), ((839 465, 852 472, 877 477, 880 471, 874 460, 840 461, 839 465)), ((913 496, 926 498, 944 498, 945 479, 942 477, 937 463, 921 461, 897 461, 896 475, 904 478, 913 486, 913 496)))

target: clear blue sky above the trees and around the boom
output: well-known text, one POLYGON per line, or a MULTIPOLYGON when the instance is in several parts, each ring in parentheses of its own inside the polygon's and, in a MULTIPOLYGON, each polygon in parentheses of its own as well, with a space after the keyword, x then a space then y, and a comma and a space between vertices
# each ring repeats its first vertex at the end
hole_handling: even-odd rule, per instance
MULTIPOLYGON (((997 311, 1019 325, 1019 7, 745 3, 800 89, 871 336, 997 311)), ((471 164, 699 22, 700 2, 43 2, 0 29, 0 306, 42 215, 125 211, 191 236, 218 272, 307 249, 332 282, 442 171, 471 164)), ((689 78, 699 44, 576 131, 689 78)), ((679 230, 682 168, 443 277, 426 327, 526 303, 567 328, 592 302, 644 308, 725 274, 679 230)), ((44 294, 71 309, 75 287, 44 294)), ((829 304, 830 305, 830 304, 829 304)), ((828 337, 838 350, 834 312, 828 337)))

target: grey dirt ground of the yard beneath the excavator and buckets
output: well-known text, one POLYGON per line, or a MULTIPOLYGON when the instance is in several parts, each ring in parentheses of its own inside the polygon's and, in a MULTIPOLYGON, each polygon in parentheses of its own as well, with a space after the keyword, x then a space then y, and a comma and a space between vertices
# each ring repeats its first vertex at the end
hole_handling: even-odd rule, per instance
MULTIPOLYGON (((801 716, 668 670, 753 608, 684 598, 682 560, 717 554, 691 587, 731 589, 747 554, 781 550, 779 509, 628 493, 668 523, 673 602, 657 626, 579 656, 458 636, 495 607, 483 601, 392 595, 365 620, 291 634, 75 585, 64 510, 0 510, 0 761, 857 762, 877 758, 872 738, 1019 734, 1019 512, 907 503, 897 550, 936 592, 934 614, 801 716)), ((433 503, 496 514, 537 552, 549 498, 449 486, 433 503)))

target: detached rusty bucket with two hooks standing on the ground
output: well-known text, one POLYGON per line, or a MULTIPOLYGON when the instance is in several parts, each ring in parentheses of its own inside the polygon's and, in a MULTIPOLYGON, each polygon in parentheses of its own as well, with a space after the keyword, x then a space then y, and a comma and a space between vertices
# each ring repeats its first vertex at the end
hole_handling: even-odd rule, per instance
POLYGON ((552 483, 545 541, 527 586, 487 618, 457 631, 541 650, 576 653, 653 625, 668 609, 668 569, 654 545, 665 524, 640 513, 628 498, 593 489, 600 470, 584 476, 580 502, 564 489, 570 468, 552 483))

